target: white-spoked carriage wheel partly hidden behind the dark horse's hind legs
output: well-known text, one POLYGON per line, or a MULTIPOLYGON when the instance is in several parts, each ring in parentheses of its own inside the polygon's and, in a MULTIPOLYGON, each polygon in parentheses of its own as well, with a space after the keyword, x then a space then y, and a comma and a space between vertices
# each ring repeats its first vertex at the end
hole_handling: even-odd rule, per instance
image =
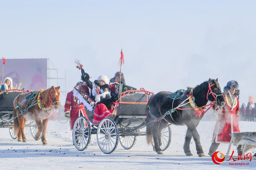
MULTIPOLYGON (((168 126, 161 131, 162 145, 160 146, 160 148, 162 151, 165 151, 169 147, 171 140, 172 140, 172 129, 170 126, 168 126)), ((153 146, 153 150, 155 151, 154 139, 152 142, 152 146, 153 146)))

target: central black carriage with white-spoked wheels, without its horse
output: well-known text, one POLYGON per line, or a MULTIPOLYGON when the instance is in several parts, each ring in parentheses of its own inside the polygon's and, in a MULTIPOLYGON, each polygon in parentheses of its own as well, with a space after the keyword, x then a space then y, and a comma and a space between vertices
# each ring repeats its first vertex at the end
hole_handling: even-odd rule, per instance
MULTIPOLYGON (((122 92, 122 90, 120 91, 122 92)), ((146 131, 143 128, 147 125, 146 107, 152 94, 142 88, 119 93, 120 97, 114 108, 114 112, 116 110, 115 117, 113 119, 104 118, 98 126, 91 126, 93 111, 86 110, 89 120, 81 116, 74 123, 72 136, 76 149, 79 151, 86 149, 92 134, 97 135, 98 145, 104 153, 114 152, 118 141, 124 149, 131 149, 137 136, 146 136, 146 131)), ((161 149, 164 151, 171 142, 171 127, 167 125, 161 134, 161 149)))

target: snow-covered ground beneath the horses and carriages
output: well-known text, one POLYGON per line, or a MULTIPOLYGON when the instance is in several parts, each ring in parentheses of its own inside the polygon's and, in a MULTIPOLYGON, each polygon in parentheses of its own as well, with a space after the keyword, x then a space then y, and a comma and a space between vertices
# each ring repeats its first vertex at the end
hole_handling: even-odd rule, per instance
MULTIPOLYGON (((62 120, 62 122, 65 122, 62 120)), ((256 122, 240 122, 241 131, 254 131, 256 122)), ((190 144, 194 156, 185 156, 183 152, 186 126, 173 126, 172 141, 164 155, 157 155, 152 146, 146 144, 146 137, 137 137, 136 144, 125 150, 120 143, 115 152, 104 154, 101 152, 96 135, 88 148, 78 151, 72 142, 72 132, 68 123, 49 121, 46 133, 48 145, 42 145, 41 141, 35 141, 29 128, 25 128, 27 143, 17 142, 9 135, 8 128, 0 129, 0 167, 1 169, 213 169, 213 168, 255 168, 256 160, 226 161, 216 165, 208 156, 212 140, 212 132, 215 121, 201 121, 197 127, 200 141, 206 157, 199 158, 196 154, 195 142, 190 144), (249 165, 229 165, 229 163, 249 163, 249 165)), ((193 139, 192 139, 193 140, 193 139)), ((220 144, 217 151, 226 155, 228 144, 220 144)), ((235 146, 231 147, 235 150, 235 146)), ((230 153, 231 153, 230 152, 230 153)), ((249 151, 254 154, 255 151, 249 151)), ((237 153, 236 153, 237 155, 237 153)))

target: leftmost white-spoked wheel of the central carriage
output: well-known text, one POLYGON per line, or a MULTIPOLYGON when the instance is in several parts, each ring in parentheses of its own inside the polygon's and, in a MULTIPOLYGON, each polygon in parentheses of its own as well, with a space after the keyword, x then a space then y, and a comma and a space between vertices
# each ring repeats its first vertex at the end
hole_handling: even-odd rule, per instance
POLYGON ((72 137, 77 150, 85 150, 91 141, 91 125, 84 116, 78 117, 74 123, 72 137))

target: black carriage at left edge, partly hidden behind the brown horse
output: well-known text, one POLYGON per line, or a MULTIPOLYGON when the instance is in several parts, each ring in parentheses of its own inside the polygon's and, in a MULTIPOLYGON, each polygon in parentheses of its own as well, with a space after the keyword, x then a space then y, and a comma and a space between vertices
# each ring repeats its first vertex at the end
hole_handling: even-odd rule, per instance
MULTIPOLYGON (((14 89, 0 92, 0 128, 9 128, 9 133, 13 139, 17 138, 13 125, 13 100, 21 93, 28 92, 26 90, 14 89)), ((33 138, 37 132, 37 126, 34 121, 30 121, 25 125, 30 128, 33 138)))

